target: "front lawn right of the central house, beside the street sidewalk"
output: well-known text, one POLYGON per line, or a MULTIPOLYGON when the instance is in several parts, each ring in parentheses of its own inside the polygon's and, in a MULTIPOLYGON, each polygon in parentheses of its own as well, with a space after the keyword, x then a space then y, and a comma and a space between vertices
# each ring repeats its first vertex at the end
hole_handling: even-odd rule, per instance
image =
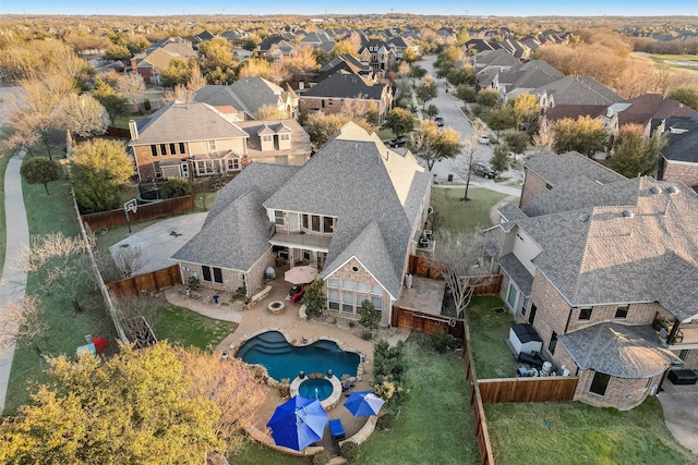
POLYGON ((432 188, 431 205, 437 216, 435 230, 472 231, 491 227, 490 210, 506 197, 505 194, 472 186, 468 189, 470 200, 462 201, 464 194, 465 186, 432 188))

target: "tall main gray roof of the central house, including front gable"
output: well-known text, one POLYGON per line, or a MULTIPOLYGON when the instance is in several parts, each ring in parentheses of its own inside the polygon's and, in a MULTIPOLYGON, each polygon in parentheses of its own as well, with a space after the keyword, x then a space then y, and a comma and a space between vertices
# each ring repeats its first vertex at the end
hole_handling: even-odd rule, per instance
POLYGON ((431 175, 411 156, 348 123, 264 206, 337 217, 323 276, 346 261, 347 248, 361 250, 364 266, 397 297, 411 224, 430 185, 431 175))

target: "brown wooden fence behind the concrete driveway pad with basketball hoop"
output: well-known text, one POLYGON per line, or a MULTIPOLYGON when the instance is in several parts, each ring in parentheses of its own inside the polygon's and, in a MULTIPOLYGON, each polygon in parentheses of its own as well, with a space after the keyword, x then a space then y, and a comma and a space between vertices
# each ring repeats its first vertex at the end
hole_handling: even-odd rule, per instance
MULTIPOLYGON (((135 213, 129 212, 129 221, 131 223, 137 223, 141 221, 154 220, 156 218, 182 213, 191 210, 192 208, 194 208, 194 197, 191 195, 169 198, 167 200, 156 201, 153 204, 139 205, 135 213)), ((89 229, 93 231, 127 224, 127 217, 123 209, 83 215, 81 219, 83 223, 88 224, 89 229)))

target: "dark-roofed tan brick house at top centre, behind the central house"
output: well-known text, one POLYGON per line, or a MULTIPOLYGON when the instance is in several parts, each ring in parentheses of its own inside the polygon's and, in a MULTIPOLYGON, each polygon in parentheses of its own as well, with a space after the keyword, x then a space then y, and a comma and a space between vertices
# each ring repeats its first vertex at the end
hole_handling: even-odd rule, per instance
POLYGON ((316 111, 340 113, 351 106, 354 113, 365 114, 374 107, 378 123, 390 110, 393 90, 388 84, 368 79, 346 71, 339 71, 321 81, 300 96, 301 114, 316 111))

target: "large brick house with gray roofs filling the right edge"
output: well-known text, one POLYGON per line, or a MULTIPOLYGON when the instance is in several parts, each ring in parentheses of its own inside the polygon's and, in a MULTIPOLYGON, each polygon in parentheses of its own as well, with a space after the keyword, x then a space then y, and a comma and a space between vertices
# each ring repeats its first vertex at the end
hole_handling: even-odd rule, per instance
POLYGON ((527 163, 524 194, 488 230, 502 297, 580 378, 575 399, 633 408, 672 366, 697 369, 698 195, 552 152, 527 163))

